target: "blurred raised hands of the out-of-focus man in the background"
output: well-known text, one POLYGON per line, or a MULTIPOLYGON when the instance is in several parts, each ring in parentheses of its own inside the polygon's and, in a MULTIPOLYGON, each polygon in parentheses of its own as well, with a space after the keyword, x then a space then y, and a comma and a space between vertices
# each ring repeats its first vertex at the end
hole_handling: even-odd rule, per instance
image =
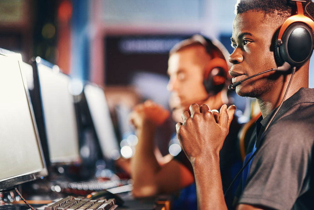
POLYGON ((135 128, 140 128, 145 123, 161 125, 169 117, 170 113, 157 103, 152 101, 145 101, 134 107, 130 114, 131 123, 135 128))

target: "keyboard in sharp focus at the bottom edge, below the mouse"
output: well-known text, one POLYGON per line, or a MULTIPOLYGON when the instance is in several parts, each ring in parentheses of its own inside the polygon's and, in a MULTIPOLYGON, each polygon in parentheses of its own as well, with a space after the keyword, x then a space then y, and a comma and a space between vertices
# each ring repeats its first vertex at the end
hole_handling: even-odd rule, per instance
POLYGON ((37 208, 38 210, 113 210, 116 207, 116 200, 102 199, 91 200, 86 197, 68 196, 60 200, 47 204, 46 206, 37 208))

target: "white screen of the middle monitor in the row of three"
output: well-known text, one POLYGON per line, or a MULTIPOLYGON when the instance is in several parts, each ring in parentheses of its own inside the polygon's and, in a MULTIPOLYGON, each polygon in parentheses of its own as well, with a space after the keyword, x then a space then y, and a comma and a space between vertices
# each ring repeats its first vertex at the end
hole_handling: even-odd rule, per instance
POLYGON ((50 162, 80 161, 76 113, 68 91, 70 77, 39 57, 36 62, 50 162))

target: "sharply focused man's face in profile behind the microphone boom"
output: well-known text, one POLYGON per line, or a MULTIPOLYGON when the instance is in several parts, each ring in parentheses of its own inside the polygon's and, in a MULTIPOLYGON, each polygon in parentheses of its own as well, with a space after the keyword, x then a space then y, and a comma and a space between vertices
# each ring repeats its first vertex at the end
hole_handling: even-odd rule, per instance
MULTIPOLYGON (((229 57, 233 64, 230 69, 232 82, 238 82, 259 72, 276 68, 273 50, 273 35, 277 27, 271 18, 263 12, 248 11, 237 14, 233 21, 231 37, 232 46, 235 48, 229 57)), ((281 88, 275 85, 282 77, 270 76, 266 73, 244 81, 236 87, 240 96, 263 97, 268 90, 281 88)))

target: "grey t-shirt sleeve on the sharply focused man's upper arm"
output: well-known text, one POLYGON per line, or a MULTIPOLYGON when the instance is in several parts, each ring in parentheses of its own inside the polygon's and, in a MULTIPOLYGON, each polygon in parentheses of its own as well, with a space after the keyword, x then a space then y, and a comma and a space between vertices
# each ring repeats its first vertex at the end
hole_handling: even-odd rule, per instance
POLYGON ((293 120, 269 127, 253 158, 239 203, 273 209, 293 207, 309 186, 306 173, 312 147, 309 139, 312 138, 301 135, 302 129, 307 127, 295 126, 293 120))

